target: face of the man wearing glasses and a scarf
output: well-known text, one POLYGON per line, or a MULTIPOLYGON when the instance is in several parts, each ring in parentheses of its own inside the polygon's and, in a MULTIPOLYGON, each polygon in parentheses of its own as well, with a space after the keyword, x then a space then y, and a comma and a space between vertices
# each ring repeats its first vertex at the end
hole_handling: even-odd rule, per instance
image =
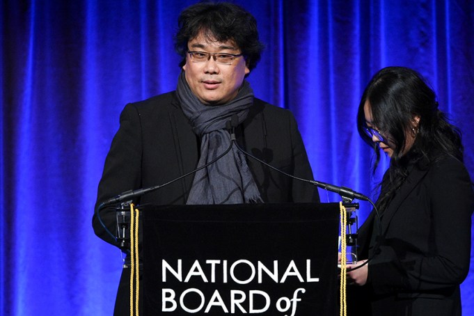
MULTIPOLYGON (((202 32, 189 40, 188 49, 191 52, 241 54, 232 40, 215 42, 206 39, 202 32)), ((211 56, 209 61, 194 63, 187 54, 186 64, 182 67, 186 81, 196 97, 203 104, 225 104, 232 100, 239 91, 244 77, 250 72, 244 56, 239 56, 231 65, 216 63, 211 56)))

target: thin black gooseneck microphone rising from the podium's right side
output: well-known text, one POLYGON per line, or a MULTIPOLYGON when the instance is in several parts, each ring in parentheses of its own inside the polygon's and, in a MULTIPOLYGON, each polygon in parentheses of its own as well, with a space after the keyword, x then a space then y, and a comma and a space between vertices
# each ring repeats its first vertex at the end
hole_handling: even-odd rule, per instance
POLYGON ((240 148, 239 144, 237 143, 237 140, 235 139, 235 127, 237 127, 237 125, 239 125, 239 118, 237 117, 237 114, 234 114, 232 116, 232 118, 230 118, 230 123, 228 122, 228 129, 230 129, 232 127, 232 133, 231 133, 230 139, 231 139, 231 141, 233 141, 235 143, 235 146, 237 147, 237 149, 239 151, 243 152, 244 155, 257 160, 261 164, 264 164, 265 166, 273 169, 274 171, 282 173, 283 175, 287 175, 288 177, 292 177, 295 180, 308 182, 308 183, 313 184, 316 187, 319 187, 321 189, 338 193, 342 198, 348 198, 350 200, 354 200, 354 198, 357 198, 358 200, 368 200, 368 201, 370 201, 370 198, 368 198, 367 196, 364 196, 362 193, 358 193, 358 192, 356 192, 352 189, 349 189, 347 187, 337 187, 333 184, 328 184, 328 183, 319 182, 319 181, 315 181, 315 180, 303 179, 301 177, 290 175, 289 173, 285 173, 284 171, 281 171, 280 169, 275 168, 274 166, 271 166, 271 164, 267 164, 267 162, 263 161, 262 159, 259 159, 259 158, 255 157, 254 155, 251 155, 250 153, 248 153, 245 150, 243 150, 242 148, 240 148), (232 138, 232 136, 233 136, 233 138, 232 138))

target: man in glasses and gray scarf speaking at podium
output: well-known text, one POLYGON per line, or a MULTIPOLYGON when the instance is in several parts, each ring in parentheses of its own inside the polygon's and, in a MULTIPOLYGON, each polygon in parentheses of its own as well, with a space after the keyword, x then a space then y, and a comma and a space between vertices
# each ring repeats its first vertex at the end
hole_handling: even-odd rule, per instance
MULTIPOLYGON (((178 24, 175 49, 182 56, 182 71, 177 88, 125 106, 106 157, 97 205, 120 192, 166 184, 187 173, 132 202, 319 202, 315 186, 248 159, 232 143, 231 134, 239 147, 267 164, 313 180, 292 113, 254 97, 245 80, 262 52, 255 18, 231 3, 198 3, 182 11, 178 24)), ((100 210, 110 232, 116 230, 115 210, 116 205, 100 210)), ((100 220, 93 216, 96 235, 119 246, 100 220)), ((129 313, 128 280, 125 268, 114 315, 129 313)))

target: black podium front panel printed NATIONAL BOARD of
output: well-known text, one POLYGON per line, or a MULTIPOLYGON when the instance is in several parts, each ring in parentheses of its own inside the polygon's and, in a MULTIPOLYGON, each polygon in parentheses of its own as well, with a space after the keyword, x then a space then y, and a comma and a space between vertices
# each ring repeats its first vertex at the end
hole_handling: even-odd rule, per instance
POLYGON ((336 315, 338 203, 138 208, 143 315, 336 315))

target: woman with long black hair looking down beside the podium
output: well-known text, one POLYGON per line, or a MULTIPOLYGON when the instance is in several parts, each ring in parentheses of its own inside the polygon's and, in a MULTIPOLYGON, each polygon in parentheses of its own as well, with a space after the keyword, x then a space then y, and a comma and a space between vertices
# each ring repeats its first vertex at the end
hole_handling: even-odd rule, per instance
POLYGON ((363 260, 347 272, 354 313, 461 315, 474 194, 459 129, 438 107, 432 88, 409 68, 384 68, 365 88, 358 132, 375 152, 374 170, 381 151, 390 166, 379 216, 372 212, 358 231, 363 260))

